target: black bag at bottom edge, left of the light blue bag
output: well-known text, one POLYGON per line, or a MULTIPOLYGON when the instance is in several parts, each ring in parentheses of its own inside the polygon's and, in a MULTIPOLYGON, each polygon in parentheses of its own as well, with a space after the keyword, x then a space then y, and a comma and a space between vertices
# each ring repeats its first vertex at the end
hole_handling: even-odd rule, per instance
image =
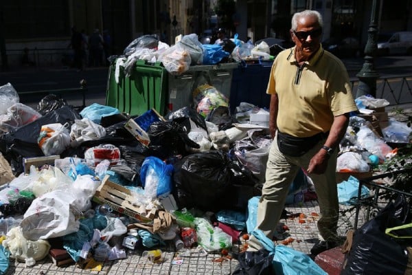
POLYGON ((261 249, 257 252, 245 251, 238 256, 238 266, 233 275, 272 275, 273 254, 261 249))

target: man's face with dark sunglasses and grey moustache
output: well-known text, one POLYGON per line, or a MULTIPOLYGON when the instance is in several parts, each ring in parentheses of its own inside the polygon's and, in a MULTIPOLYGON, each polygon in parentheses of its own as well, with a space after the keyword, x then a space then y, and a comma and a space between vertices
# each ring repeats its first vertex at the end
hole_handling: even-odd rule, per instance
POLYGON ((321 45, 322 28, 316 17, 301 17, 296 30, 290 30, 298 61, 308 61, 321 45))

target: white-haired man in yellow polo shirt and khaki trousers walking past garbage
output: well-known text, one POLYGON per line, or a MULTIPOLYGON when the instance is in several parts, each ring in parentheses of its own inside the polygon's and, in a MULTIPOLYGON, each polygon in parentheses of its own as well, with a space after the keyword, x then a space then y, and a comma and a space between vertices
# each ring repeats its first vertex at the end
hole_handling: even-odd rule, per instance
MULTIPOLYGON (((271 69, 269 130, 273 137, 256 228, 272 239, 290 184, 304 168, 314 183, 320 218, 313 256, 339 245, 337 148, 357 111, 343 63, 321 46, 323 20, 314 10, 297 12, 290 36, 295 47, 280 52, 271 69)), ((262 248, 251 237, 249 251, 262 248)))

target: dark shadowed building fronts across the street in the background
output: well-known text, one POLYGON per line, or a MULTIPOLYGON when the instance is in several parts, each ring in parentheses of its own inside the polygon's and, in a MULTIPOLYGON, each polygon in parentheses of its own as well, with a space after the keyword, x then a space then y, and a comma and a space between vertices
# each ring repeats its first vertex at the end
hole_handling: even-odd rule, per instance
POLYGON ((216 5, 231 1, 236 10, 227 29, 242 41, 270 36, 288 40, 293 13, 314 9, 323 15, 323 39, 352 36, 365 45, 374 1, 380 32, 412 30, 412 0, 398 0, 396 5, 389 0, 2 0, 1 65, 3 69, 21 65, 25 48, 37 65, 61 63, 62 56, 71 52, 73 26, 86 35, 96 29, 108 32, 113 55, 122 54, 144 34, 157 34, 172 45, 178 34, 201 35, 219 26, 216 5))

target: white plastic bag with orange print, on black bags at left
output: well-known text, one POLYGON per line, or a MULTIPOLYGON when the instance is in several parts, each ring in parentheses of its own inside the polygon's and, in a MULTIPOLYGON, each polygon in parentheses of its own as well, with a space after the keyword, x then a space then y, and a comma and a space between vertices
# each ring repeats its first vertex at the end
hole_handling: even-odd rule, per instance
POLYGON ((60 155, 70 144, 68 124, 52 123, 41 126, 38 146, 45 155, 60 155))

